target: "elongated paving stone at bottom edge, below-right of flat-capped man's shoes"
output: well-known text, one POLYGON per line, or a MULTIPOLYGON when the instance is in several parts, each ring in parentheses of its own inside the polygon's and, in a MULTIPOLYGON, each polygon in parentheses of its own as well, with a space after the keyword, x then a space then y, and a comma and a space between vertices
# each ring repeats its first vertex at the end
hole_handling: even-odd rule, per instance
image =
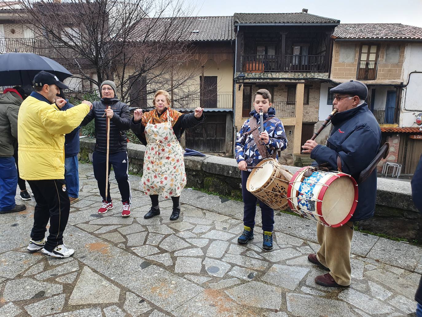
POLYGON ((377 299, 371 298, 361 292, 353 290, 351 288, 342 291, 338 294, 338 298, 346 301, 349 304, 361 309, 368 314, 385 314, 394 312, 394 308, 388 306, 384 302, 380 302, 377 299))

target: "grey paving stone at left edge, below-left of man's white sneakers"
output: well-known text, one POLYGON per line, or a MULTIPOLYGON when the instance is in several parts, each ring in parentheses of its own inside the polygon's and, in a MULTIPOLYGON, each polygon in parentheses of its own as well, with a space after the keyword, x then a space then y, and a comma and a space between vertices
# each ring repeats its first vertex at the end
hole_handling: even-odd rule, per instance
POLYGON ((29 254, 15 251, 8 251, 0 254, 0 277, 14 279, 19 273, 35 264, 41 259, 41 254, 29 254))

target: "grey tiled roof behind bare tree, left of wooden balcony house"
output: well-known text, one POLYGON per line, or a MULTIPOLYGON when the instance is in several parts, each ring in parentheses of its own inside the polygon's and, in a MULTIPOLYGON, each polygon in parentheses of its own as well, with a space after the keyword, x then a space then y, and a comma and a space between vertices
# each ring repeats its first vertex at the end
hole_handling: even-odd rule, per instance
POLYGON ((143 19, 133 34, 134 40, 146 41, 163 40, 164 34, 167 40, 180 41, 230 41, 236 38, 233 16, 143 19))

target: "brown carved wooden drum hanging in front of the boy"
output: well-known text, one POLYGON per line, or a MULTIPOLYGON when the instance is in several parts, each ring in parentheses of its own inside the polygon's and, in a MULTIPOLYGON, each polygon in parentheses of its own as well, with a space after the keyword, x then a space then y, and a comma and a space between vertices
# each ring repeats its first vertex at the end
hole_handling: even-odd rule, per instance
POLYGON ((273 158, 260 161, 246 182, 246 189, 273 209, 287 205, 287 187, 293 174, 273 158))

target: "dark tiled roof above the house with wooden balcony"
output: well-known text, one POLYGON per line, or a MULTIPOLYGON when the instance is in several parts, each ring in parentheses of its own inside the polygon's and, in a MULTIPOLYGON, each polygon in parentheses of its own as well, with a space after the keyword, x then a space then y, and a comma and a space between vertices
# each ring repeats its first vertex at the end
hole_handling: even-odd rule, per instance
POLYGON ((235 13, 235 23, 340 23, 340 20, 298 13, 235 13))

